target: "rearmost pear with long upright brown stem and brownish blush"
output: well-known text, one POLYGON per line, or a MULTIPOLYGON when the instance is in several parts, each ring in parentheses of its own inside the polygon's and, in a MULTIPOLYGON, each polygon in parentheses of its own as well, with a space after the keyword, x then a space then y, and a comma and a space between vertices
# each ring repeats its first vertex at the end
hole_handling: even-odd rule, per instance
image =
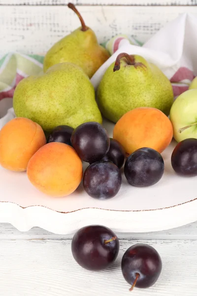
POLYGON ((81 67, 91 78, 109 58, 109 53, 99 45, 95 33, 85 25, 76 7, 72 3, 68 3, 68 7, 78 15, 81 27, 49 49, 44 58, 44 72, 54 64, 70 62, 81 67))

